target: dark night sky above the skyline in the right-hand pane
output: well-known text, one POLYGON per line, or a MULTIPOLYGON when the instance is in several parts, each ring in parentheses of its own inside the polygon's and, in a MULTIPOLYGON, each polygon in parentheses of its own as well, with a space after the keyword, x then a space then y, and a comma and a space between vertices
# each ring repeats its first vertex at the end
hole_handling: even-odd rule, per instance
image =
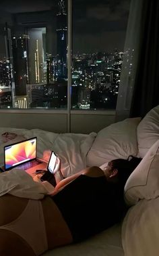
POLYGON ((74 51, 123 50, 129 0, 73 0, 74 51))

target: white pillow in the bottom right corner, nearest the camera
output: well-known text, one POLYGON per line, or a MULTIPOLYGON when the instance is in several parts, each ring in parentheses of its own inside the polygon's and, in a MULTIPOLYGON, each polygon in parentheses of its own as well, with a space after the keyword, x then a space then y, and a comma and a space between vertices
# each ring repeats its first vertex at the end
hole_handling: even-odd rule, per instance
POLYGON ((159 198, 140 200, 123 220, 124 255, 157 256, 159 253, 159 198))

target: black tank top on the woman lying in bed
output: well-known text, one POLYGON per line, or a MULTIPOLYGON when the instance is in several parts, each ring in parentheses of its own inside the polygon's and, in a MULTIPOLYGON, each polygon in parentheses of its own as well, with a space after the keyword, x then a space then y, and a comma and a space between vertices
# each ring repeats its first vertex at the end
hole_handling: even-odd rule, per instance
POLYGON ((123 191, 105 176, 80 175, 52 197, 78 242, 113 226, 123 216, 123 191))

